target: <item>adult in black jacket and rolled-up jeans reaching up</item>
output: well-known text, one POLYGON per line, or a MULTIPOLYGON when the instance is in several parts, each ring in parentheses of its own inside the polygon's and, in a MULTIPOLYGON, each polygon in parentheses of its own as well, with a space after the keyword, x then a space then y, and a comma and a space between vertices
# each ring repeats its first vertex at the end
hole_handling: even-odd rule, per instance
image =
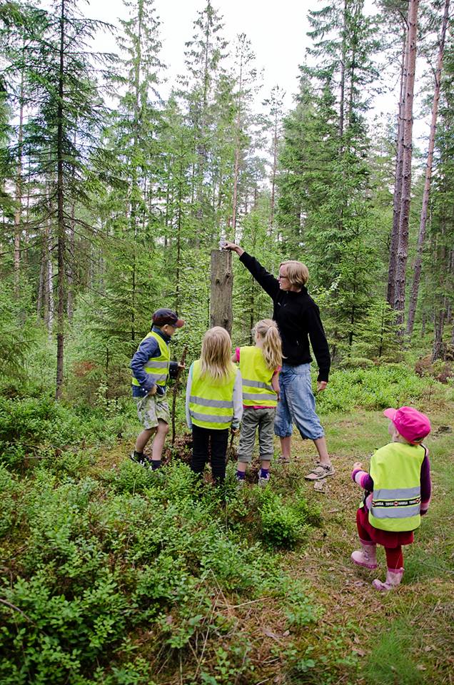
POLYGON ((312 392, 309 340, 318 363, 319 392, 325 390, 328 383, 331 360, 318 307, 306 289, 308 268, 297 261, 283 262, 278 278, 275 278, 239 245, 226 242, 223 248, 236 252, 243 265, 273 300, 273 319, 281 333, 284 356, 279 377, 281 399, 274 423, 274 432, 281 438, 282 459, 284 462, 290 461, 293 420, 301 437, 313 440, 318 452, 318 464, 306 475, 306 480, 332 476, 334 469, 312 392))

